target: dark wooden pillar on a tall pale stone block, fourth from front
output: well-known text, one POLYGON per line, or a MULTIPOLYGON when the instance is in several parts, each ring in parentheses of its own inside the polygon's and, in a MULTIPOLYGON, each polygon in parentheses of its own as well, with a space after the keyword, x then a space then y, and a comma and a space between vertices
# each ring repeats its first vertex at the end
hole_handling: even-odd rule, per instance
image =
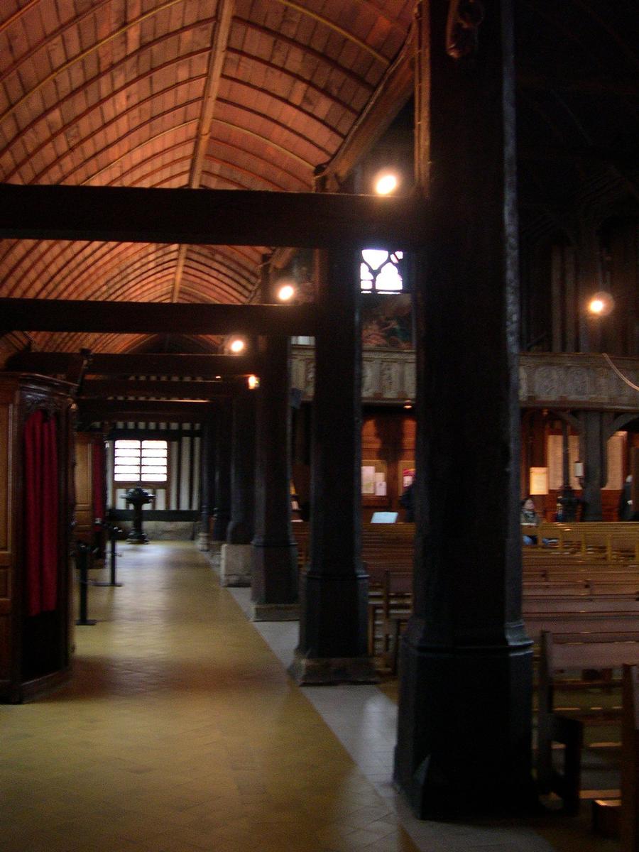
POLYGON ((255 529, 255 395, 242 389, 233 398, 231 440, 231 520, 222 545, 223 585, 250 585, 255 529))

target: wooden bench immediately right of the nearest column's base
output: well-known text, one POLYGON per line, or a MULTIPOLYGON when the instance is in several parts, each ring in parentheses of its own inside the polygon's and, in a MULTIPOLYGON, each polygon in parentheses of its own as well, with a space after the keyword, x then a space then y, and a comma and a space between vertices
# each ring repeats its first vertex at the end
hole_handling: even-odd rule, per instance
MULTIPOLYGON (((639 665, 639 636, 626 635, 618 641, 611 633, 592 633, 588 641, 584 636, 550 634, 539 636, 538 659, 538 727, 537 727, 537 782, 539 792, 555 792, 561 797, 567 813, 579 811, 581 755, 584 743, 584 711, 576 716, 567 711, 557 711, 554 703, 556 674, 560 671, 585 671, 593 669, 621 669, 624 665, 639 665), (564 747, 563 771, 553 767, 553 743, 564 747)), ((611 713, 595 712, 588 721, 610 721, 611 713)), ((612 717, 616 717, 612 714, 612 717)))

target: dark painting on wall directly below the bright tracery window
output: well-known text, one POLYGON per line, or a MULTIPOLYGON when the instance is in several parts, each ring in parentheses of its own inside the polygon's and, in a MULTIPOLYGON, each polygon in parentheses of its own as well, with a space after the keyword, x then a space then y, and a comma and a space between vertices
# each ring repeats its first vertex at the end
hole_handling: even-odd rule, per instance
POLYGON ((362 346, 412 349, 412 302, 407 293, 366 293, 361 301, 362 346))

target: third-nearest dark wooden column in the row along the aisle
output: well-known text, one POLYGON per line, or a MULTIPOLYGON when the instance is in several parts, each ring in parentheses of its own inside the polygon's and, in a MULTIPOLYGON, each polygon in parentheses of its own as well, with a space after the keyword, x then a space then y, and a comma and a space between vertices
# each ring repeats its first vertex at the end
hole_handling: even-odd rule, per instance
POLYGON ((253 538, 253 617, 297 619, 297 545, 291 534, 291 345, 260 340, 256 390, 256 506, 253 538))

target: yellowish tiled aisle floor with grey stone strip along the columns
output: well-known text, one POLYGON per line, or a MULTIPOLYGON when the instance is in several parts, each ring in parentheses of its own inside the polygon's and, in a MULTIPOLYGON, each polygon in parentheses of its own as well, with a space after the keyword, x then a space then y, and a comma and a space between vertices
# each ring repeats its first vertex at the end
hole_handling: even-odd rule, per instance
POLYGON ((379 689, 296 688, 296 625, 252 625, 193 544, 119 550, 124 586, 89 589, 72 682, 0 706, 2 852, 617 848, 565 821, 413 820, 379 689))

